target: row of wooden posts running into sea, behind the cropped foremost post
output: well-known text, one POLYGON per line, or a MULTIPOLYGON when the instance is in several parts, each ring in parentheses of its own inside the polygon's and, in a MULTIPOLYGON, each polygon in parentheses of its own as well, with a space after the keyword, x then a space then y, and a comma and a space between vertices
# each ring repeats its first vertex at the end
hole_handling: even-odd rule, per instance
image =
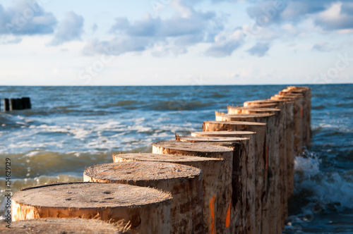
POLYGON ((228 106, 203 132, 86 168, 83 183, 17 192, 12 218, 100 218, 138 233, 282 233, 310 121, 308 87, 228 106))

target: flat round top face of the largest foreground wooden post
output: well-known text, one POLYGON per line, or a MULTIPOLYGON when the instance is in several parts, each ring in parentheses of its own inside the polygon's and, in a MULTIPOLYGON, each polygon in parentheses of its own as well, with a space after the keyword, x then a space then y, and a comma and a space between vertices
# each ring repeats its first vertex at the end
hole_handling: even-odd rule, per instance
POLYGON ((144 206, 169 199, 171 195, 148 187, 84 182, 28 187, 13 195, 17 204, 68 209, 144 206))

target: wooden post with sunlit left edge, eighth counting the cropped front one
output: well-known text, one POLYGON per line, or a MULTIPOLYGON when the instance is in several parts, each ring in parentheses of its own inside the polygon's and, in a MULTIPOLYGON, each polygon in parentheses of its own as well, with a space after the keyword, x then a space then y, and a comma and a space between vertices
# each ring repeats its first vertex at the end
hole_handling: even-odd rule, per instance
POLYGON ((265 204, 262 204, 262 197, 265 195, 265 161, 267 159, 266 154, 266 124, 265 123, 253 123, 253 122, 242 122, 242 121, 205 121, 203 122, 203 131, 251 131, 255 132, 255 187, 256 187, 256 216, 261 219, 261 226, 259 233, 268 233, 268 209, 265 209, 265 204))

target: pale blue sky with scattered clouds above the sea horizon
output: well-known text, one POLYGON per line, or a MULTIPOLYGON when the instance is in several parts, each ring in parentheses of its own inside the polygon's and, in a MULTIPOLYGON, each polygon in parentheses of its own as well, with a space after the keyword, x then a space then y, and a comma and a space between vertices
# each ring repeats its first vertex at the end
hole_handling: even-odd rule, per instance
POLYGON ((0 85, 352 82, 351 0, 0 0, 0 85))

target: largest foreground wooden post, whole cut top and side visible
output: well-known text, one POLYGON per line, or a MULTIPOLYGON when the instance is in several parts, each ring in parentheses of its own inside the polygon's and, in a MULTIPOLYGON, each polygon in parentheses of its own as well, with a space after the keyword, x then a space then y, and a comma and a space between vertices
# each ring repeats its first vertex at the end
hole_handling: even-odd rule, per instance
POLYGON ((100 218, 115 223, 124 219, 138 233, 169 233, 171 199, 168 193, 150 187, 54 183, 16 192, 12 197, 12 221, 100 218))

